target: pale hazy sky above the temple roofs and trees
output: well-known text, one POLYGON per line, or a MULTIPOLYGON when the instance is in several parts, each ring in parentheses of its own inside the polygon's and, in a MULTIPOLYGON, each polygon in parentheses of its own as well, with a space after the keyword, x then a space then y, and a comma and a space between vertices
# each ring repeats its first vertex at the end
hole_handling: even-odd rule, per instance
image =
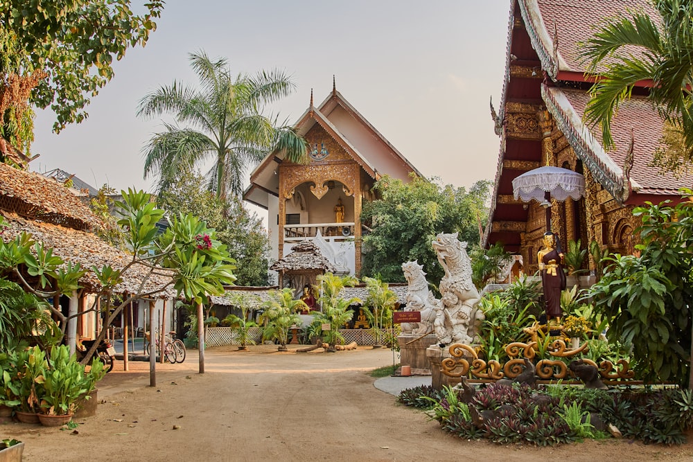
POLYGON ((267 108, 295 123, 337 90, 426 177, 468 188, 493 179, 500 141, 509 0, 168 0, 144 48, 114 64, 86 121, 52 133, 38 110, 31 163, 62 168, 95 186, 152 191, 143 147, 161 118, 135 115, 139 100, 174 80, 196 85, 189 53, 226 57, 232 74, 281 69, 295 92, 267 108))

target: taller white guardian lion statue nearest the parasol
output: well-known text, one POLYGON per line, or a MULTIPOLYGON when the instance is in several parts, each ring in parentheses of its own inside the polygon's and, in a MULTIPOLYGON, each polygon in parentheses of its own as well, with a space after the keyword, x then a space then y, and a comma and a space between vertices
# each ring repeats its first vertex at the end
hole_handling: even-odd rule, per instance
POLYGON ((432 245, 445 270, 439 286, 442 297, 435 306, 435 334, 441 345, 471 344, 478 340, 484 313, 477 308, 481 297, 472 282, 467 243, 459 241, 457 233, 440 233, 432 245))

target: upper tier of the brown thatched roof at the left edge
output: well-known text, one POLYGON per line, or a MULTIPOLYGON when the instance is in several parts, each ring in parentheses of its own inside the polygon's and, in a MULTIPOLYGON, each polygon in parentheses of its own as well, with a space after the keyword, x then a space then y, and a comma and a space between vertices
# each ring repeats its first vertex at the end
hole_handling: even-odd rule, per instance
POLYGON ((0 163, 0 208, 44 222, 87 230, 101 222, 58 181, 0 163))

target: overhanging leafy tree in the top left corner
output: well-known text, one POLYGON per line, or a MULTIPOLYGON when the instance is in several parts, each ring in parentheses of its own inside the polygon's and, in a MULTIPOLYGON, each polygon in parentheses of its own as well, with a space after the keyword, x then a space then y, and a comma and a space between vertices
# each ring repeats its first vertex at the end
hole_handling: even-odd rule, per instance
POLYGON ((3 136, 15 136, 17 146, 26 148, 33 139, 28 105, 50 106, 57 115, 55 132, 84 120, 89 98, 114 75, 113 60, 146 44, 163 9, 161 0, 1 1, 3 136))

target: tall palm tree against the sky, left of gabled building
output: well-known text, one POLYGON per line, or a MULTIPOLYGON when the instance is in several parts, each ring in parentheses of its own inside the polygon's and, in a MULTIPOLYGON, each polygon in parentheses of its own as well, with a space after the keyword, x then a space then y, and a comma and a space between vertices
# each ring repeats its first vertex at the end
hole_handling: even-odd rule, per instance
POLYGON ((225 58, 212 61, 200 52, 191 53, 190 61, 198 89, 174 81, 142 98, 137 108, 144 118, 164 112, 175 116, 175 124, 164 123, 166 131, 152 136, 144 148, 144 177, 159 175, 159 192, 194 166, 213 160, 205 175, 209 189, 221 199, 240 197, 243 175, 270 150, 285 152, 290 161, 305 161, 306 141, 291 127, 275 127, 277 118, 262 114, 265 105, 294 89, 285 73, 232 78, 225 58))

